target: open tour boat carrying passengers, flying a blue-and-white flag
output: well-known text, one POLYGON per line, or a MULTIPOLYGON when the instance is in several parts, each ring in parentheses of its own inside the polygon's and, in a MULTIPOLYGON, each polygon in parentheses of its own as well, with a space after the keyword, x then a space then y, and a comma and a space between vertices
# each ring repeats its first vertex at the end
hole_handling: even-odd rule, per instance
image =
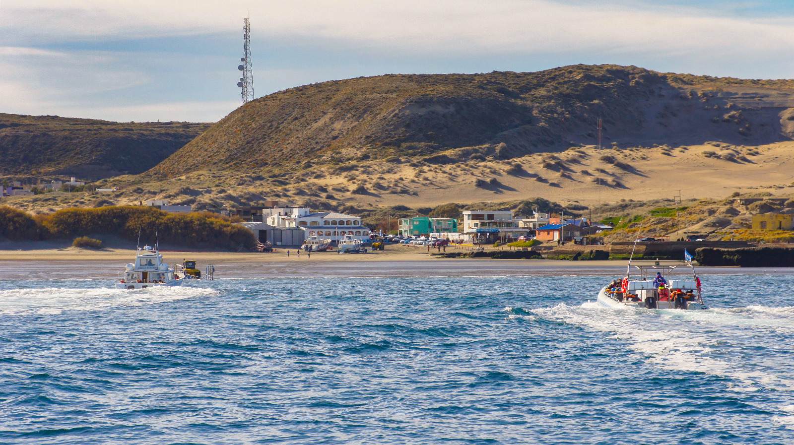
POLYGON ((684 251, 684 262, 634 264, 637 269, 631 275, 631 260, 626 267, 626 276, 604 286, 598 293, 599 305, 607 308, 634 307, 646 309, 708 309, 700 293, 700 278, 692 265, 692 256, 684 251), (691 270, 678 274, 677 267, 688 266, 691 270), (614 289, 614 290, 613 290, 614 289))

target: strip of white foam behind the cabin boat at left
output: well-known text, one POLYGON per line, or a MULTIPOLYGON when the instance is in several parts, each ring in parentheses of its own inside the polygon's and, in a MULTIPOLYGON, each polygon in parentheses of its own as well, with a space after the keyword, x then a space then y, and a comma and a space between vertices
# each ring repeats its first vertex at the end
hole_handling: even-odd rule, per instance
POLYGON ((96 311, 119 306, 152 305, 163 301, 216 293, 206 288, 156 286, 146 290, 110 288, 0 290, 0 313, 6 315, 59 314, 65 310, 96 311))

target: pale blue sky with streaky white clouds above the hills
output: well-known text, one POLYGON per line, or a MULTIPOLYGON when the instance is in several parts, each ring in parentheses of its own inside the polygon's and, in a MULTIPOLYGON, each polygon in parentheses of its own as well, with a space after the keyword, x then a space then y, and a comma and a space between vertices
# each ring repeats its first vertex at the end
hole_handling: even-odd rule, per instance
POLYGON ((0 113, 214 122, 256 98, 387 73, 576 63, 794 78, 791 0, 0 0, 0 113))

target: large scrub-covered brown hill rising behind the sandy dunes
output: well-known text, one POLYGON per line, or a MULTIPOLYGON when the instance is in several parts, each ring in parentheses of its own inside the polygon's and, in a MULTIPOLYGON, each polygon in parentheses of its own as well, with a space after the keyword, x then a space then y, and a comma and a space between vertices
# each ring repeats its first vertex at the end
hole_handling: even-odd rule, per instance
POLYGON ((301 171, 353 159, 511 159, 597 144, 770 144, 794 135, 794 81, 576 65, 381 75, 299 86, 230 113, 151 174, 301 171))

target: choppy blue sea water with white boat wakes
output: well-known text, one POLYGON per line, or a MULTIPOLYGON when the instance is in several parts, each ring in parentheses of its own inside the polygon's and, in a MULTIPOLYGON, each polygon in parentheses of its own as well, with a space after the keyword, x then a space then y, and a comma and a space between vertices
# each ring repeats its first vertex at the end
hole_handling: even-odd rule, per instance
POLYGON ((0 443, 794 443, 790 273, 645 311, 595 304, 618 272, 434 267, 6 277, 0 443))

